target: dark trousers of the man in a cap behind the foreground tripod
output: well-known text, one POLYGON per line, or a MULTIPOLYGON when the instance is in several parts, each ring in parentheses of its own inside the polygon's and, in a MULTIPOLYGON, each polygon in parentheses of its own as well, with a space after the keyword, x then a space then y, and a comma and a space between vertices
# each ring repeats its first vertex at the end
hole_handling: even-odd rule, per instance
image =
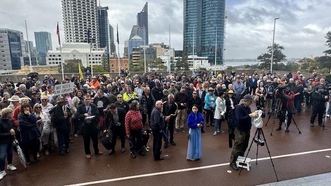
POLYGON ((235 129, 235 145, 232 148, 230 163, 235 164, 238 156, 244 156, 248 147, 250 131, 240 131, 235 129))

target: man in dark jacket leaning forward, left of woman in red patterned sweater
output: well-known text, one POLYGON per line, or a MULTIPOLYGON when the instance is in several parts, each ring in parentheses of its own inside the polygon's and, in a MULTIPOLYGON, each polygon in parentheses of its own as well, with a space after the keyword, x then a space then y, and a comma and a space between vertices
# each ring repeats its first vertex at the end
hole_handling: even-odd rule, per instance
POLYGON ((111 103, 109 105, 109 110, 107 111, 106 117, 105 117, 105 123, 104 123, 104 133, 110 130, 113 132, 112 137, 112 149, 110 149, 109 154, 115 153, 115 146, 116 146, 116 140, 117 136, 121 140, 121 152, 125 151, 125 111, 122 108, 116 108, 116 105, 114 103, 111 103))

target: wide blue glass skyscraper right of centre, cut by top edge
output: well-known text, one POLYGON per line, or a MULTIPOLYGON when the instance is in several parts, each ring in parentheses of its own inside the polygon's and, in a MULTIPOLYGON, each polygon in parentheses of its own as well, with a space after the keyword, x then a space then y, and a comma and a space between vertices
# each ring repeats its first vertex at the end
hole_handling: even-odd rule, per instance
POLYGON ((223 64, 225 0, 184 0, 183 49, 188 55, 208 57, 211 65, 223 64), (193 39, 194 30, 194 39, 193 39), (217 48, 216 44, 217 30, 217 48))

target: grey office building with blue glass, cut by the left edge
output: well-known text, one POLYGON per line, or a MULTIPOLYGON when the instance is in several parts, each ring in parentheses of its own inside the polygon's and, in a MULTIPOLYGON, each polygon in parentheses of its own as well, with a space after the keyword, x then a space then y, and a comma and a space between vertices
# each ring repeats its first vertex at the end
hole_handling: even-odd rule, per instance
POLYGON ((24 44, 22 32, 0 29, 0 70, 18 70, 24 65, 24 44))

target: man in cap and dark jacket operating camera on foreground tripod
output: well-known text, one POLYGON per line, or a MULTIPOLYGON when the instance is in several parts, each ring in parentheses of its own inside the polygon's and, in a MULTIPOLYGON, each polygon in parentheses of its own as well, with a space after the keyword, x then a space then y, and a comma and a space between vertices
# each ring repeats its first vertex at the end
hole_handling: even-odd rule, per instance
POLYGON ((245 95, 244 98, 240 101, 240 104, 237 105, 235 109, 234 118, 236 120, 235 128, 235 145, 232 148, 231 158, 230 158, 230 167, 234 170, 238 170, 236 161, 238 156, 243 156, 249 142, 250 137, 250 128, 251 118, 258 116, 257 113, 251 113, 249 105, 252 103, 253 98, 251 95, 245 95))

